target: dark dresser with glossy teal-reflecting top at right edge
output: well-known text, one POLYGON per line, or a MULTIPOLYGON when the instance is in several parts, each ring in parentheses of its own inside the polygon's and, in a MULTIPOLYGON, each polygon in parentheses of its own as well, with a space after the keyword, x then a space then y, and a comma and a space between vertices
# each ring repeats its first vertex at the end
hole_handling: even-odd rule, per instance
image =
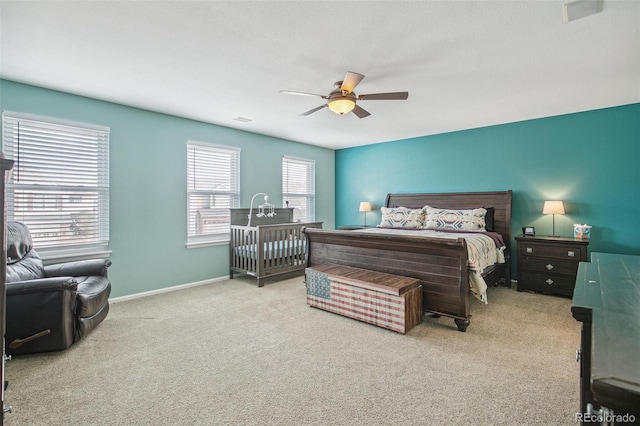
POLYGON ((576 420, 640 423, 640 256, 593 253, 580 263, 571 313, 582 323, 576 420))

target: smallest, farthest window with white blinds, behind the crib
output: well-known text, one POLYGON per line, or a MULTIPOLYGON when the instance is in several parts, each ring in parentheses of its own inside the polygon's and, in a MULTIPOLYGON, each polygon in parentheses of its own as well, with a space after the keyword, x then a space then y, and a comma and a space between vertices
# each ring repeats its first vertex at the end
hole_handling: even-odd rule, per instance
POLYGON ((303 158, 282 157, 282 201, 293 207, 294 220, 316 219, 316 162, 303 158))

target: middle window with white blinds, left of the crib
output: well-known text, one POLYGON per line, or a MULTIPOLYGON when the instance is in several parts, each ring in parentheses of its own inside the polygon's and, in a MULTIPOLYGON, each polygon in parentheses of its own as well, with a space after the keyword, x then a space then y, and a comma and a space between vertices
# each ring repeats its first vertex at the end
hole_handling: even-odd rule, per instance
POLYGON ((240 204, 240 148, 187 142, 187 245, 229 240, 240 204))

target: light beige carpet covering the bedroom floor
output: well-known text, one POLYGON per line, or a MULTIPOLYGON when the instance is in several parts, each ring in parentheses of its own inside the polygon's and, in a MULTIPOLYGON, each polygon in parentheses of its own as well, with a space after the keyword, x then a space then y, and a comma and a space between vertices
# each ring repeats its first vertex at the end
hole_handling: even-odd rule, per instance
POLYGON ((303 278, 111 306, 85 340, 7 364, 6 425, 575 424, 570 299, 492 288, 466 333, 310 308, 303 278))

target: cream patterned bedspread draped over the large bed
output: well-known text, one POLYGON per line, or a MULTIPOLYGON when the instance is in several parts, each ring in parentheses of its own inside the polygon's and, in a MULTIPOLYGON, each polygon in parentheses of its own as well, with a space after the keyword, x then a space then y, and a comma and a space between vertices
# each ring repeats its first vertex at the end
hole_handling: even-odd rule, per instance
POLYGON ((447 233, 429 229, 413 230, 400 228, 365 228, 358 232, 371 234, 413 235, 452 240, 464 238, 467 242, 467 255, 469 258, 469 286, 473 295, 484 303, 487 303, 487 283, 484 281, 484 278, 482 278, 482 271, 495 263, 505 263, 505 247, 496 247, 496 243, 493 238, 481 233, 447 233))

